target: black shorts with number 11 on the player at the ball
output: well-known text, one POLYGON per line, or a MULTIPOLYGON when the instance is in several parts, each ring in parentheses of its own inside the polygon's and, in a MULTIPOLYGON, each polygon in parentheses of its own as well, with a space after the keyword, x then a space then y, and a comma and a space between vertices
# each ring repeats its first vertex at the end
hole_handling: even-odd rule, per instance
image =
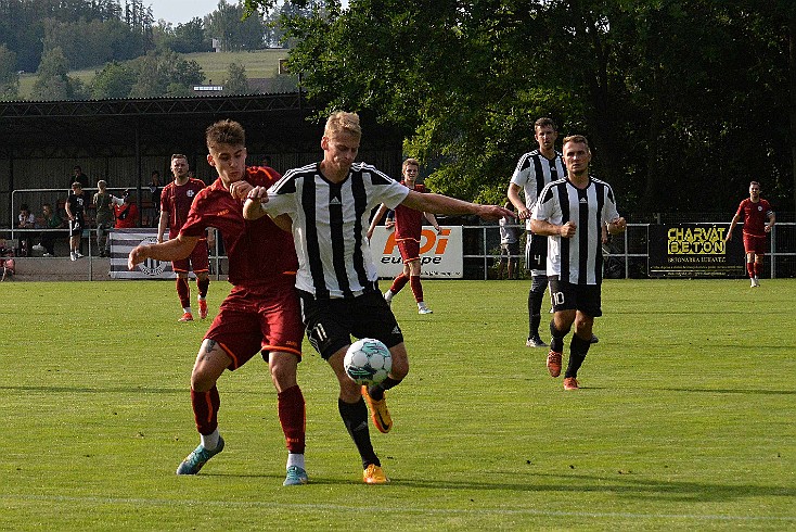
POLYGON ((350 299, 316 300, 301 290, 298 295, 307 339, 324 360, 349 345, 351 337, 375 338, 387 347, 403 342, 398 321, 377 290, 350 299))

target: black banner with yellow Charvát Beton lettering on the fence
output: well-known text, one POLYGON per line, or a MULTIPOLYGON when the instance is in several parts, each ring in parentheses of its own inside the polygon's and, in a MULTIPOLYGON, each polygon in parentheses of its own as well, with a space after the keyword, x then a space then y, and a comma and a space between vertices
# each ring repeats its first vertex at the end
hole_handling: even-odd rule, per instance
POLYGON ((745 277, 741 231, 726 242, 727 224, 650 226, 650 277, 745 277))

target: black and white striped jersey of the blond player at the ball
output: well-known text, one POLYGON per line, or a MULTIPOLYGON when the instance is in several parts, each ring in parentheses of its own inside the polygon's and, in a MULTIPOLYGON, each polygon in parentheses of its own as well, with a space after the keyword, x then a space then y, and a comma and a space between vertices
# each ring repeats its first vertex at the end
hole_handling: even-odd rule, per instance
POLYGON ((370 215, 395 208, 409 189, 375 167, 355 163, 333 183, 318 163, 288 170, 268 190, 268 214, 287 214, 298 255, 296 288, 317 299, 354 297, 376 289, 378 273, 368 242, 370 215))

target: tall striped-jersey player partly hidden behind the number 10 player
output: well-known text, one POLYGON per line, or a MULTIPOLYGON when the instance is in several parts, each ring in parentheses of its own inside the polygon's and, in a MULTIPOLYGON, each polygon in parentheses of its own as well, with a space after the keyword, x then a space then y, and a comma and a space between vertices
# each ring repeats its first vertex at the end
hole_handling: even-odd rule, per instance
POLYGON ((527 231, 525 268, 530 270, 531 281, 528 291, 528 339, 525 345, 528 347, 547 347, 548 344, 539 335, 539 324, 541 324, 544 290, 548 288, 548 238, 534 235, 530 227, 530 212, 544 186, 550 181, 563 178, 565 170, 561 153, 555 151, 555 139, 559 138, 559 129, 552 118, 543 117, 536 121, 534 138, 539 148, 519 157, 506 194, 517 208, 519 219, 525 220, 527 231), (524 202, 521 192, 525 195, 524 202))

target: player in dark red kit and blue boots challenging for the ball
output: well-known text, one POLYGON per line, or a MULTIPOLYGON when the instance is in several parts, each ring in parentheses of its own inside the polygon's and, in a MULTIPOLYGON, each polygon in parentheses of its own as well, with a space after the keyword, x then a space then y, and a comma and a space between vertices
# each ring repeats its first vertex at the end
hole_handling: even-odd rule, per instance
POLYGON ((216 227, 229 257, 233 288, 205 334, 191 373, 191 403, 202 443, 177 469, 195 474, 223 449, 218 431, 220 398, 216 381, 257 353, 268 362, 277 388, 279 419, 287 444, 284 485, 307 483, 304 465, 305 402, 296 381, 304 326, 295 290, 298 259, 291 233, 264 216, 243 219, 243 201, 254 187, 268 188, 280 175, 269 167, 246 167, 245 132, 221 121, 207 129, 207 161, 218 179, 200 191, 180 232, 167 242, 142 244, 130 252, 133 269, 146 258, 179 261, 191 254, 208 227, 216 227))

